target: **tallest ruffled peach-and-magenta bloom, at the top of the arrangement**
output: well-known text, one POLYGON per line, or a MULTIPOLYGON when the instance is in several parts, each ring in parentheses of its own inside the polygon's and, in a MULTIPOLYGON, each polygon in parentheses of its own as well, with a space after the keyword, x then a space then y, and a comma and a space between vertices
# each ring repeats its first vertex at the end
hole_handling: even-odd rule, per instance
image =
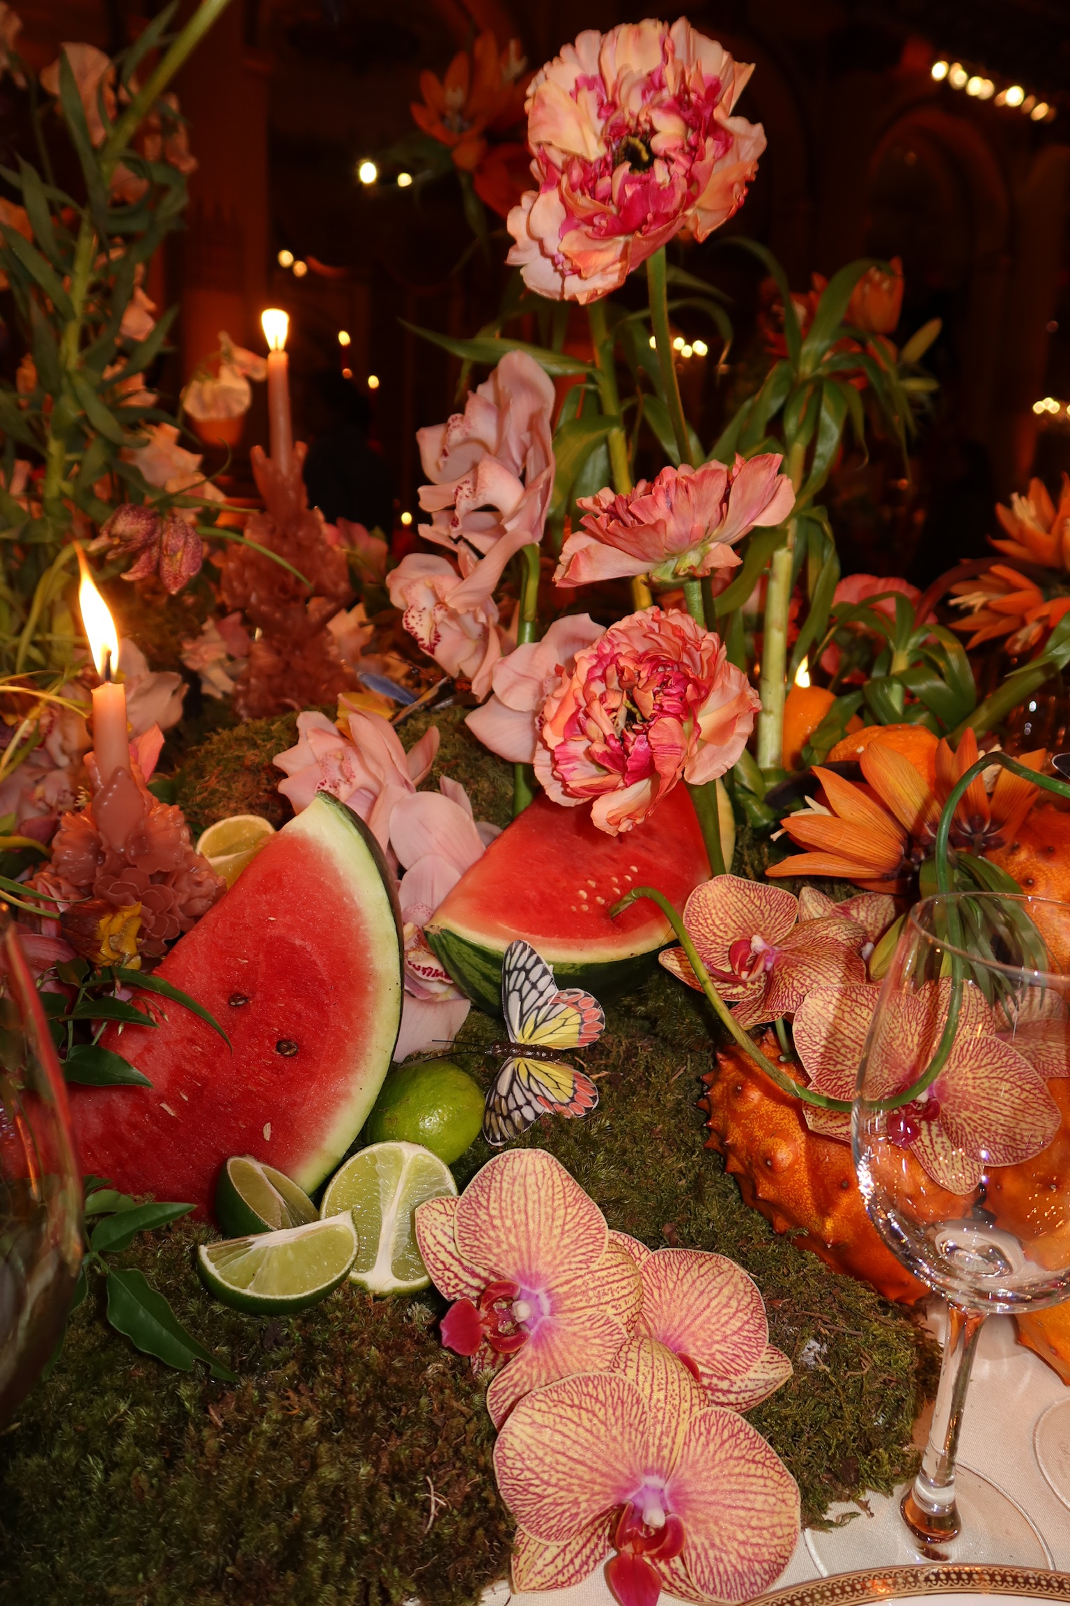
POLYGON ((539 188, 509 215, 529 289, 597 300, 674 234, 725 223, 765 149, 732 116, 751 72, 687 18, 590 29, 547 63, 528 90, 539 188))

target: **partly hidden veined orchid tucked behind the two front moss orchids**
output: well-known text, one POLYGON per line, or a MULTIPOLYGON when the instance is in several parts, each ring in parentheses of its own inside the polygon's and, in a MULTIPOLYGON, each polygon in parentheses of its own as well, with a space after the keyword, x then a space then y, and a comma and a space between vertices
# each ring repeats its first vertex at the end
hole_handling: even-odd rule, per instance
POLYGON ((788 1381, 791 1362, 770 1344, 765 1304, 743 1267, 704 1249, 648 1249, 624 1233, 616 1240, 643 1285, 635 1335, 671 1349, 707 1405, 749 1410, 788 1381))

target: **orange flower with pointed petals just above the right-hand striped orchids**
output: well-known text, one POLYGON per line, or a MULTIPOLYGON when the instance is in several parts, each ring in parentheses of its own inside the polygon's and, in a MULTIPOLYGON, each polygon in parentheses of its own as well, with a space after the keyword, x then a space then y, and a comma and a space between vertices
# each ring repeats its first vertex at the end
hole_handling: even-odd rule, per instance
MULTIPOLYGON (((932 774, 881 742, 871 742, 861 753, 865 787, 817 766, 813 774, 825 803, 812 803, 781 821, 792 842, 817 851, 772 864, 765 874, 837 875, 869 891, 905 891, 932 850, 945 801, 977 758, 977 737, 966 731, 958 752, 946 740, 937 744, 932 774)), ((1048 753, 1043 748, 1022 753, 1019 761, 1040 769, 1048 753)), ((1006 846, 1036 792, 1031 782, 1001 769, 990 797, 979 777, 954 809, 951 845, 972 853, 1006 846)))

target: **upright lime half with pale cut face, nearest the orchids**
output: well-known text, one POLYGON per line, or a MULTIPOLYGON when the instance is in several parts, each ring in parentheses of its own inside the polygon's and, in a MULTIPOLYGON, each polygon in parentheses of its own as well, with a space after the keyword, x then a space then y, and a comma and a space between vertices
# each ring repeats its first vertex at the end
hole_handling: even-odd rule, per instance
POLYGON ((430 1148, 372 1143, 335 1171, 319 1214, 351 1214, 361 1245, 351 1282, 369 1294, 411 1294, 430 1283, 412 1230, 415 1206, 456 1192, 449 1166, 430 1148))

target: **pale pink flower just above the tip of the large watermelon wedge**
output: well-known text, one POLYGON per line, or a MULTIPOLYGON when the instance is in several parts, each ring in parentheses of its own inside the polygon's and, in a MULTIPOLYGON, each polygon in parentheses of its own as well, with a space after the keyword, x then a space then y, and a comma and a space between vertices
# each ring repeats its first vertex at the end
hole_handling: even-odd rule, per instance
POLYGON ((406 753, 395 728, 377 713, 351 708, 348 734, 318 710, 297 716, 298 742, 273 763, 286 771, 279 792, 300 814, 318 792, 330 792, 366 822, 379 845, 390 848, 395 806, 427 779, 438 752, 438 726, 406 753))

